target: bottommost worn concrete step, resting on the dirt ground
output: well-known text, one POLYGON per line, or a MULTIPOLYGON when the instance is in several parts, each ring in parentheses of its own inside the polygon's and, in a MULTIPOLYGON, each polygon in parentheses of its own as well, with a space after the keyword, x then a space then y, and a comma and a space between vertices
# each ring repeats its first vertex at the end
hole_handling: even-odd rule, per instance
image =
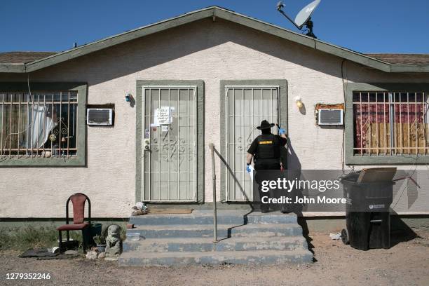
POLYGON ((184 266, 191 264, 304 264, 313 261, 308 250, 225 252, 124 252, 119 266, 184 266))

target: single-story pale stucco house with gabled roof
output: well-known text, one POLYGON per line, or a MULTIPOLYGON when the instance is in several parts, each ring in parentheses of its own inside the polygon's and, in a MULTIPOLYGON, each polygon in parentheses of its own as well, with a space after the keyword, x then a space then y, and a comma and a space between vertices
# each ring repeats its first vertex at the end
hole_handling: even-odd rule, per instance
MULTIPOLYGON (((262 119, 287 129, 285 168, 426 170, 428 96, 428 54, 357 53, 217 6, 60 53, 0 53, 0 217, 64 217, 76 192, 100 218, 137 201, 210 208, 210 143, 238 179, 216 159, 219 208, 243 207, 262 119), (320 124, 324 107, 343 121, 320 124)), ((425 190, 402 196, 404 213, 429 213, 425 190)))

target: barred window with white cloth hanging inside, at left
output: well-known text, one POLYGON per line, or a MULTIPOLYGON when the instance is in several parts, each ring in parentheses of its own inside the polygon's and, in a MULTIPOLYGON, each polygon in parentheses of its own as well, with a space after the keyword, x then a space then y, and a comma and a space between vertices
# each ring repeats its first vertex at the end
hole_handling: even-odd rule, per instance
POLYGON ((0 90, 0 159, 76 156, 78 96, 73 90, 0 90))

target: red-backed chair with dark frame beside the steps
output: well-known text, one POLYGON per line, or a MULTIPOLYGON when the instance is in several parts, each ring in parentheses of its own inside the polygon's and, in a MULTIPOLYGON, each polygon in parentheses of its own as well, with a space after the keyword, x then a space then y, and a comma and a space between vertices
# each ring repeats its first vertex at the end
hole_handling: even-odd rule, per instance
POLYGON ((58 238, 60 240, 59 247, 62 251, 62 231, 67 231, 67 242, 70 241, 69 231, 82 231, 82 246, 83 252, 86 251, 86 242, 83 238, 83 229, 91 225, 91 202, 88 196, 84 193, 74 193, 67 199, 66 203, 66 224, 57 227, 58 238), (69 224, 69 202, 73 204, 73 224, 69 224), (85 203, 88 200, 88 222, 85 222, 85 203))

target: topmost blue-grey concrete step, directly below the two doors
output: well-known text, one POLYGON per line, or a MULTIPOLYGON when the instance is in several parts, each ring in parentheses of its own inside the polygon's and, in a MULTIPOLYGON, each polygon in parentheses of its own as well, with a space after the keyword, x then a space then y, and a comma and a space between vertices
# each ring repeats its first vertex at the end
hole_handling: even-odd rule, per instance
MULTIPOLYGON (((244 212, 243 210, 219 210, 218 224, 293 224, 297 222, 296 214, 281 212, 244 212)), ((130 217, 130 224, 167 225, 167 224, 213 224, 212 210, 195 210, 191 214, 145 214, 130 217)))

